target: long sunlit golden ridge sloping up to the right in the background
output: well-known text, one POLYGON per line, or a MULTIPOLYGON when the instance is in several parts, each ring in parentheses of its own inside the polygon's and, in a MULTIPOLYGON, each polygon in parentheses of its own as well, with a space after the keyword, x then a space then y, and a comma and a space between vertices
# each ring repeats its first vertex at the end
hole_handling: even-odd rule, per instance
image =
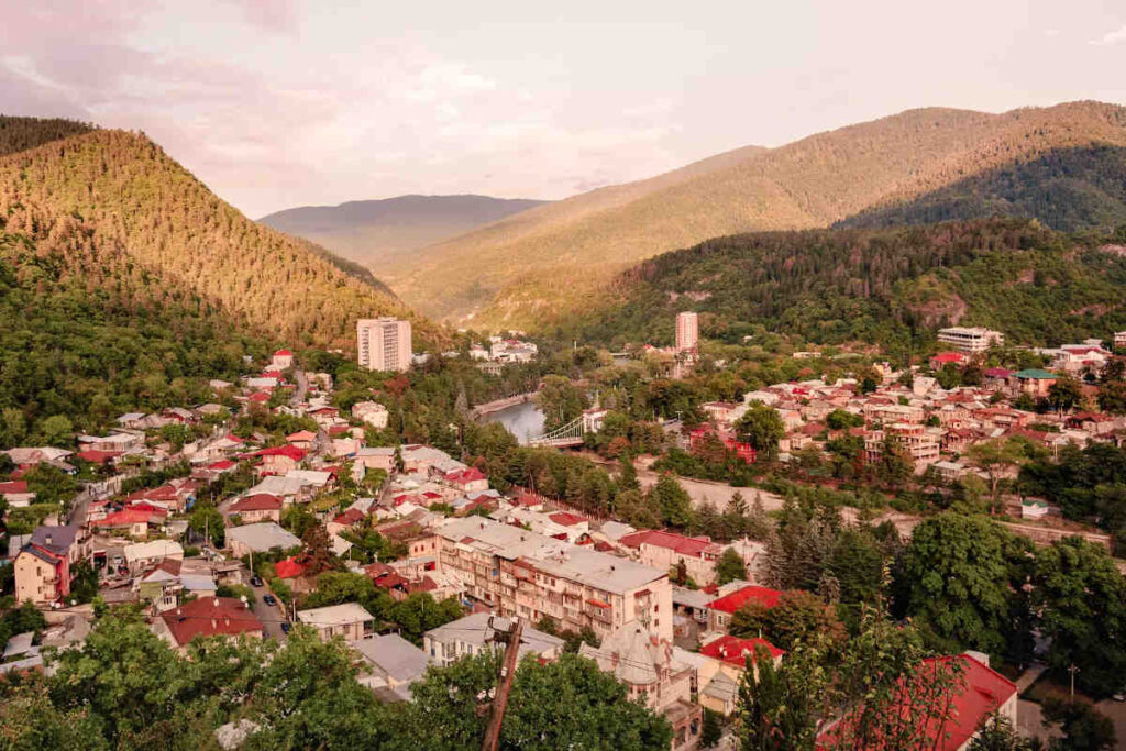
POLYGON ((1126 109, 918 109, 542 206, 429 248, 388 283, 449 318, 534 325, 598 302, 618 271, 750 230, 825 226, 1053 149, 1126 145, 1126 109))

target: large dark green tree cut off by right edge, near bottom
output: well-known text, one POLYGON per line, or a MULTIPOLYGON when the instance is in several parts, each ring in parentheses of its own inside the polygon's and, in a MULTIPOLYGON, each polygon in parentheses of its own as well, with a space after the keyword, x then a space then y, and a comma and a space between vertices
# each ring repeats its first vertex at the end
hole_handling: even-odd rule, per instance
POLYGON ((1098 545, 1069 537, 1036 560, 1034 608, 1051 640, 1047 663, 1061 678, 1079 668, 1075 683, 1094 696, 1123 689, 1126 674, 1126 580, 1098 545))

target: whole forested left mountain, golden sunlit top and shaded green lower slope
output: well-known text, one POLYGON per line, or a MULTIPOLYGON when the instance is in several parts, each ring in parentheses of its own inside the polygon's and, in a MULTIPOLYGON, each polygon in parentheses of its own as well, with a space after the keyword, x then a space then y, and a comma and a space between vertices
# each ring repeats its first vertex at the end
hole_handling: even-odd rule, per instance
POLYGON ((93 430, 193 403, 243 355, 354 347, 356 319, 412 315, 361 269, 242 216, 142 134, 19 127, 14 143, 39 145, 0 157, 5 444, 53 438, 54 415, 93 430))

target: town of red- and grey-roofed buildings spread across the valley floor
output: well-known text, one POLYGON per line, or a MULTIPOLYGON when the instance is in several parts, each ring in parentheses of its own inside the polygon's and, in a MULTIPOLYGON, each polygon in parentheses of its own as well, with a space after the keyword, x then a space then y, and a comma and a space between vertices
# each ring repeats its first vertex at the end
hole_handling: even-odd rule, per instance
MULTIPOLYGON (((985 515, 978 531, 1028 555, 1079 546, 1091 565, 1117 566, 1120 597, 1123 564, 1110 554, 1123 528, 1094 524, 1080 507, 1098 500, 1061 495, 1048 475, 1089 482, 1092 498, 1120 492, 1108 483, 1123 488, 1126 332, 1020 349, 1002 332, 947 328, 932 355, 901 367, 794 351, 793 378, 703 401, 692 383, 726 374, 734 396, 743 381, 683 312, 672 347, 596 356, 578 377, 544 372, 529 399, 557 414, 543 435, 518 441, 489 409, 468 417, 480 405, 463 391, 464 422, 428 444, 408 440, 403 413, 434 377, 427 368, 462 363, 495 381, 536 367, 542 348, 509 334, 417 355, 409 321, 356 330, 351 364, 279 349, 238 383, 213 381, 214 401, 3 452, 0 571, 23 606, 5 616, 3 673, 57 670, 57 653, 81 651, 115 610, 140 613, 182 654, 212 637, 342 640, 359 683, 390 704, 413 701, 432 668, 485 652, 540 663, 577 653, 667 721, 670 748, 707 748, 732 742, 744 673, 780 670, 815 633, 884 627, 870 610, 891 596, 886 570, 903 583, 915 565, 920 576, 938 566, 942 580, 913 584, 897 616, 966 647, 924 662, 954 665, 963 682, 947 691, 953 709, 933 748, 967 749, 998 717, 1040 733, 1046 709, 1025 691, 1060 660, 1083 671, 1092 696, 1126 689, 1123 673, 1097 674, 1124 664, 1117 636, 1075 647, 1058 624, 971 629, 938 613, 988 618, 983 592, 954 591, 966 574, 942 546, 974 544, 951 536, 978 517, 944 513, 951 508, 985 515), (638 420, 623 399, 629 374, 635 393, 687 395, 663 414, 650 399, 638 420), (577 438, 552 438, 568 424, 577 438), (1107 476, 1082 476, 1108 462, 1118 464, 1107 476)), ((501 409, 525 401, 493 395, 501 409)), ((980 551, 962 555, 983 565, 980 551)), ((852 732, 848 713, 829 719, 819 742, 852 732)), ((220 730, 224 748, 248 733, 220 730)))

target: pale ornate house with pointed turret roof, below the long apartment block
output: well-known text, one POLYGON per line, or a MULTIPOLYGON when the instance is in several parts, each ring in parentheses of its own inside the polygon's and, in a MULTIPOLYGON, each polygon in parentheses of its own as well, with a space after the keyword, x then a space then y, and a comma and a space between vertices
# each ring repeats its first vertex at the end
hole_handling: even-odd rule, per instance
POLYGON ((636 622, 616 628, 601 646, 583 643, 579 647, 581 656, 626 685, 629 699, 664 715, 672 725, 673 749, 697 740, 703 716, 700 706, 691 701, 696 670, 679 652, 636 622))

